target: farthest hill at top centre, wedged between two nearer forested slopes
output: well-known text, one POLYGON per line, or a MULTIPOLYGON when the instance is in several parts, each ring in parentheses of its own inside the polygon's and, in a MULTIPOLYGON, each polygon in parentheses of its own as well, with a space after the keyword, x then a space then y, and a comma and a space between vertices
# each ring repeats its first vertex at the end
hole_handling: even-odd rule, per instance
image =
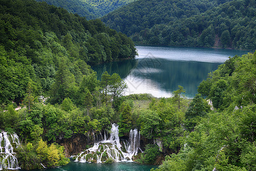
POLYGON ((70 13, 78 14, 87 19, 103 17, 111 11, 136 0, 36 0, 49 5, 63 7, 70 13))

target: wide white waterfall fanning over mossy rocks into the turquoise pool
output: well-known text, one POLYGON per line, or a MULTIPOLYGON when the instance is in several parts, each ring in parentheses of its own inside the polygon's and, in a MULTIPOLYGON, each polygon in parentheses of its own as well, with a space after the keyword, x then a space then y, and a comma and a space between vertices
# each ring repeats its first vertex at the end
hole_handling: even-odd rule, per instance
POLYGON ((104 135, 103 141, 95 143, 92 148, 75 156, 75 161, 94 163, 105 162, 109 159, 115 162, 131 161, 132 156, 140 150, 140 133, 137 129, 133 129, 129 132, 129 141, 120 143, 118 127, 112 124, 110 138, 107 140, 104 135))

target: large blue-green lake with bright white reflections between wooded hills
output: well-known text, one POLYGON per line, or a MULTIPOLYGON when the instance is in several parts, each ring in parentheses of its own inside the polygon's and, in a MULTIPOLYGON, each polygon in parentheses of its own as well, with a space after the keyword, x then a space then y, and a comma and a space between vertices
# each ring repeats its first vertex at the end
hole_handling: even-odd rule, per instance
POLYGON ((170 97, 178 86, 192 98, 208 74, 229 59, 248 51, 213 48, 136 46, 136 59, 92 66, 97 77, 108 71, 117 73, 128 85, 125 95, 151 93, 155 97, 170 97))

